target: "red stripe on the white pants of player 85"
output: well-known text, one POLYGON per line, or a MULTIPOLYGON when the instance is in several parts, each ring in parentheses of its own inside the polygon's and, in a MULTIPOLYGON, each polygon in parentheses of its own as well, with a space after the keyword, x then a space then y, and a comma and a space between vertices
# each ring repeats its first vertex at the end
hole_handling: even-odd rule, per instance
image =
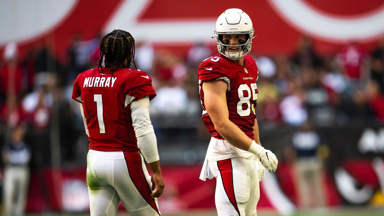
POLYGON ((229 158, 226 160, 217 161, 217 167, 220 171, 225 193, 227 194, 229 201, 232 203, 237 213, 240 215, 240 211, 238 209, 235 198, 235 189, 233 188, 233 173, 231 159, 229 158))

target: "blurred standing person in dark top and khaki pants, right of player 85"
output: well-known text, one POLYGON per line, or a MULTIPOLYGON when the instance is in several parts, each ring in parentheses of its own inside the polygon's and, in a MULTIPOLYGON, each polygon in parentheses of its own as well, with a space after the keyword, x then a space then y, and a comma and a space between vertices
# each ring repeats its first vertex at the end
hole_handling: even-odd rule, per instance
POLYGON ((326 205, 324 190, 323 161, 316 156, 321 144, 319 134, 309 121, 306 121, 292 135, 296 150, 295 180, 298 194, 298 207, 309 209, 326 205))

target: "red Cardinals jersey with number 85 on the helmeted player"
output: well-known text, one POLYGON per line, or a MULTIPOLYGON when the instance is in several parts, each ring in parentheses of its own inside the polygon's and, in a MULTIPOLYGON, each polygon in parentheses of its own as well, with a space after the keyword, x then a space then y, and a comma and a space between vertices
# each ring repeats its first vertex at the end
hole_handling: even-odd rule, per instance
POLYGON ((199 79, 200 100, 203 106, 202 120, 211 136, 224 140, 215 130, 205 110, 202 83, 210 80, 223 80, 228 84, 227 106, 229 120, 253 140, 253 126, 256 118, 255 107, 258 95, 256 85, 258 70, 255 60, 246 55, 244 56, 244 66, 241 66, 221 54, 213 56, 200 63, 197 69, 197 78, 199 79))

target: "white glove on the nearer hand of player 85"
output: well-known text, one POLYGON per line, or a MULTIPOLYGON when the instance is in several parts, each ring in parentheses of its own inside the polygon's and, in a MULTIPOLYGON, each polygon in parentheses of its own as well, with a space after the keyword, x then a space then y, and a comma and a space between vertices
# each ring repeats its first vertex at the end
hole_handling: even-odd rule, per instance
POLYGON ((278 164, 275 154, 273 154, 270 150, 266 150, 263 146, 258 145, 255 140, 253 140, 248 151, 255 154, 257 158, 261 159, 261 163, 268 169, 269 173, 275 173, 278 164))

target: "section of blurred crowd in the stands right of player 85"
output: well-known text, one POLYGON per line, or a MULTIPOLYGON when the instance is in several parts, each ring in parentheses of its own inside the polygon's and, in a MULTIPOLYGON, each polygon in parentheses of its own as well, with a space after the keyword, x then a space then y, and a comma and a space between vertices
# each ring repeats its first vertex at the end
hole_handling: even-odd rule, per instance
POLYGON ((384 39, 371 53, 350 43, 320 56, 302 37, 291 56, 256 58, 262 80, 258 120, 269 126, 384 122, 383 53, 384 39))

